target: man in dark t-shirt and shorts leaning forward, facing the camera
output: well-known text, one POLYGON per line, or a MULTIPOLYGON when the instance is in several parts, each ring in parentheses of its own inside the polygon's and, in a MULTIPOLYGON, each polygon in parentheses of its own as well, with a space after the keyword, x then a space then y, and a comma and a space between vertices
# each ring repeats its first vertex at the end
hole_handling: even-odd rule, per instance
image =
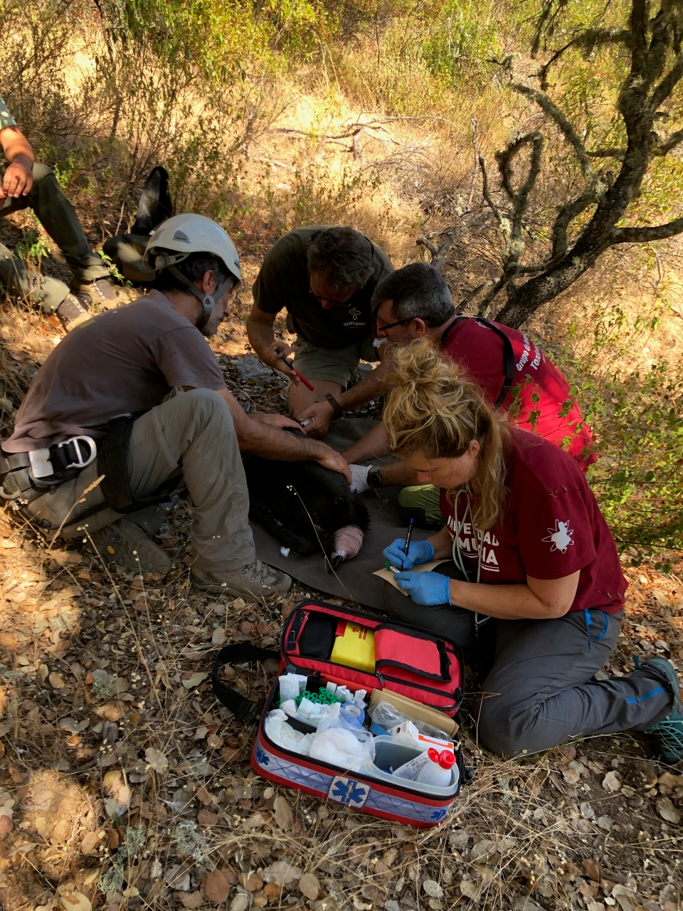
MULTIPOLYGON (((393 271, 386 253, 352 228, 295 228, 266 256, 253 287, 247 334, 263 363, 291 379, 294 417, 325 398, 337 416, 335 395, 349 384, 360 360, 378 360, 370 302, 379 281, 393 271), (283 308, 294 347, 274 337, 283 308), (295 352, 294 366, 313 391, 278 356, 295 352)), ((326 427, 317 427, 321 435, 326 427)))

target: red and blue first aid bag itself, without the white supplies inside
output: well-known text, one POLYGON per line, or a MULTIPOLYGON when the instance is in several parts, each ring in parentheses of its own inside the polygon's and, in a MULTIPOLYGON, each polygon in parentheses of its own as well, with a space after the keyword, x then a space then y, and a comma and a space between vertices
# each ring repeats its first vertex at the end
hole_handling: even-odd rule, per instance
MULTIPOLYGON (((220 667, 225 663, 266 658, 280 659, 278 678, 280 674, 301 674, 316 685, 334 684, 352 693, 366 691, 368 701, 381 700, 382 693, 391 701, 395 694, 396 704, 418 703, 415 709, 426 707, 425 714, 431 720, 438 721, 442 713, 442 728, 456 730, 453 718, 463 698, 464 682, 463 660, 457 645, 394 620, 321 601, 303 601, 285 623, 280 654, 249 644, 230 645, 220 650, 212 674, 216 695, 238 720, 259 719, 251 765, 264 778, 400 823, 428 827, 442 822, 461 784, 471 777, 464 768, 455 736, 452 740, 457 764, 447 786, 404 779, 374 763, 360 772, 350 771, 294 752, 275 742, 265 730, 264 722, 270 711, 280 705, 279 681, 275 681, 265 704, 259 705, 219 679, 220 667), (362 630, 372 630, 373 655, 369 655, 362 630), (340 650, 340 639, 345 660, 340 660, 336 653, 340 650), (359 643, 357 650, 354 641, 359 643)), ((375 762, 384 766, 390 763, 389 756, 392 767, 397 767, 421 752, 420 747, 398 743, 389 736, 376 737, 374 744, 375 762)))

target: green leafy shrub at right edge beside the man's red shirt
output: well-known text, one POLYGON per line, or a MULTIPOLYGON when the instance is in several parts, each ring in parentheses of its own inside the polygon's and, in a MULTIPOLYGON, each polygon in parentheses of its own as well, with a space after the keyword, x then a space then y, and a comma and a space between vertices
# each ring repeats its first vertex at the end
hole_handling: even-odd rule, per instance
POLYGON ((665 569, 683 553, 683 365, 644 363, 637 352, 667 310, 661 299, 636 316, 614 302, 586 309, 559 357, 596 436, 589 480, 617 545, 634 565, 654 556, 665 569))

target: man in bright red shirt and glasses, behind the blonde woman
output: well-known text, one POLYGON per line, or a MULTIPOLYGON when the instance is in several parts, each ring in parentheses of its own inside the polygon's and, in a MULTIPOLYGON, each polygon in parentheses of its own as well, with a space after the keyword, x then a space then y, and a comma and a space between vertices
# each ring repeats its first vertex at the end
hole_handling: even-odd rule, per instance
MULTIPOLYGON (((596 461, 593 437, 563 374, 524 333, 497 322, 457 316, 443 275, 433 266, 412 262, 394 271, 378 286, 372 306, 380 338, 391 344, 432 338, 481 386, 489 404, 505 411, 513 423, 566 449, 583 471, 596 461)), ((384 394, 383 376, 391 369, 391 361, 384 357, 361 384, 340 395, 340 411, 384 394)), ((301 418, 310 417, 320 428, 336 416, 323 402, 301 418)), ((378 425, 342 455, 350 463, 358 463, 385 452, 384 427, 378 425)), ((371 486, 381 486, 382 480, 384 484, 410 483, 402 468, 388 466, 381 477, 375 471, 371 486)), ((364 489, 363 484, 359 489, 364 489)))

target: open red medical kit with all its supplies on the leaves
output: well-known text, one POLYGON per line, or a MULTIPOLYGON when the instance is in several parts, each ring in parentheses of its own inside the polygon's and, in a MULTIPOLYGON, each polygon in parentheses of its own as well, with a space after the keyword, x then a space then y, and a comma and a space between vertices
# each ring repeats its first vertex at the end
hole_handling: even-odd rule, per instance
POLYGON ((280 653, 229 645, 212 679, 238 720, 258 719, 251 765, 272 782, 422 828, 439 824, 469 781, 454 721, 461 652, 424 630, 303 601, 280 653), (265 704, 219 679, 226 663, 267 658, 280 670, 265 704))

